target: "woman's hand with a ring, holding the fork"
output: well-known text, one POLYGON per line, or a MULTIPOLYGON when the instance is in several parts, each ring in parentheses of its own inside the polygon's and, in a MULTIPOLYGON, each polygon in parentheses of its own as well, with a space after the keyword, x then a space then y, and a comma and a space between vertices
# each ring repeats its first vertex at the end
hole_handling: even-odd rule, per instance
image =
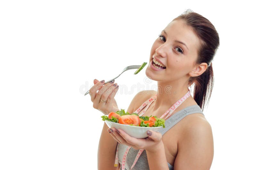
POLYGON ((117 83, 109 82, 103 85, 105 81, 99 81, 97 79, 94 79, 93 83, 94 86, 89 91, 93 108, 100 110, 105 115, 119 110, 116 100, 114 99, 119 87, 117 83), (97 92, 97 90, 99 91, 97 92))

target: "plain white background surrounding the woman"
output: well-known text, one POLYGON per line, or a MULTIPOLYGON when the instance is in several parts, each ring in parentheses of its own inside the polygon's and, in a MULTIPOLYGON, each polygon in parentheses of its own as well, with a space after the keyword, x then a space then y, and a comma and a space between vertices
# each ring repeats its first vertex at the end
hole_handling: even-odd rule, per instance
MULTIPOLYGON (((214 136, 211 169, 253 169, 255 13, 242 2, 1 1, 0 169, 97 169, 104 122, 83 93, 95 78, 148 62, 158 34, 186 9, 220 36, 204 110, 214 136)), ((145 69, 133 72, 116 79, 128 90, 116 94, 120 109, 156 85, 145 69)))

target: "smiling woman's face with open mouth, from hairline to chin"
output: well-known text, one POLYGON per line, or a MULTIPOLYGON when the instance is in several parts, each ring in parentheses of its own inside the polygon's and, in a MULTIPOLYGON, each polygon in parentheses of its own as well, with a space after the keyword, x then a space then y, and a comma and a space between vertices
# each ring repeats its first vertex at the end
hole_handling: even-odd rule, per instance
POLYGON ((190 26, 183 20, 172 21, 151 48, 146 75, 156 81, 188 80, 188 73, 195 68, 199 45, 190 26))

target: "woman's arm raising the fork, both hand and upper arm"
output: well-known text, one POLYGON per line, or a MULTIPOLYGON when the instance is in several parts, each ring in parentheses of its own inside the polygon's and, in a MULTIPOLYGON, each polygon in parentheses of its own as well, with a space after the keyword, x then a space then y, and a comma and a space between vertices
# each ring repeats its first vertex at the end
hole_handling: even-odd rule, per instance
MULTIPOLYGON (((104 81, 100 82, 95 79, 94 86, 90 89, 93 108, 105 115, 119 110, 114 99, 118 90, 116 87, 116 83, 109 82, 104 85, 104 81), (97 90, 99 91, 97 92, 97 90), (100 99, 106 100, 106 102, 102 102, 100 99)), ((108 126, 104 123, 98 146, 98 169, 117 170, 118 167, 114 167, 117 142, 108 134, 107 129, 108 126)))

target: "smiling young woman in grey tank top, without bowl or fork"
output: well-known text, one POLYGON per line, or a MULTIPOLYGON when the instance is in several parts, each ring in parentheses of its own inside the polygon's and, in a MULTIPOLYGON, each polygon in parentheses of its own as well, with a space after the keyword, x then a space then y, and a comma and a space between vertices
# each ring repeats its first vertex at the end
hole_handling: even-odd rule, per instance
MULTIPOLYGON (((185 11, 164 28, 151 48, 146 69, 146 75, 157 81, 158 91, 138 93, 127 111, 157 117, 165 113, 166 127, 161 132, 148 131, 147 138, 137 139, 104 124, 98 169, 210 169, 212 129, 202 110, 211 96, 212 59, 218 47, 215 27, 193 11, 185 11), (188 87, 193 84, 192 97, 188 87), (146 106, 142 105, 144 102, 146 106), (181 104, 177 107, 178 103, 181 104), (114 167, 117 147, 119 167, 114 167), (138 154, 139 151, 143 152, 138 154)), ((114 99, 118 85, 103 85, 104 81, 96 79, 94 84, 90 89, 93 107, 106 115, 119 110, 114 99)))

